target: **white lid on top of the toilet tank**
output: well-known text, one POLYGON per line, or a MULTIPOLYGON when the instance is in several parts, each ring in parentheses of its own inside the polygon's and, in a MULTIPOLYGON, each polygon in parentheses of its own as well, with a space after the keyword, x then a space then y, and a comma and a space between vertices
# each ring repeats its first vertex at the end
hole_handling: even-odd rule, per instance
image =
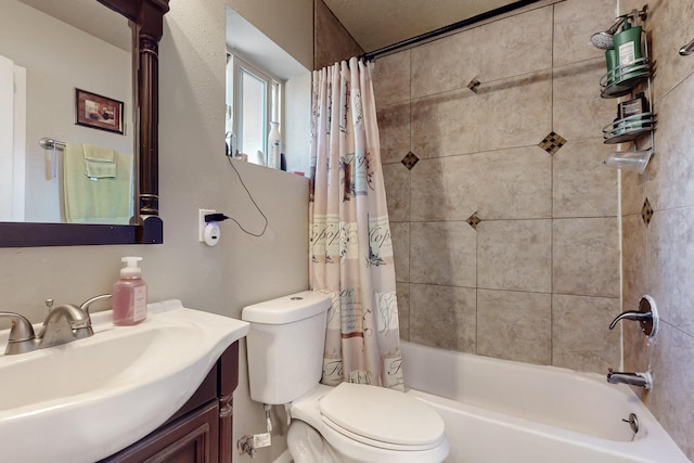
POLYGON ((305 291, 244 307, 241 319, 250 323, 292 323, 324 313, 330 305, 327 295, 305 291))

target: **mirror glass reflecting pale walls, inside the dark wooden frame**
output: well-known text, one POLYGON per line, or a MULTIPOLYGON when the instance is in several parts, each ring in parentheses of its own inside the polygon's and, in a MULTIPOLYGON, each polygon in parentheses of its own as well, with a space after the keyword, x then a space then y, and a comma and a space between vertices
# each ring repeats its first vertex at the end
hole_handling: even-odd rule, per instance
MULTIPOLYGON (((98 175, 94 175, 94 170, 91 170, 91 177, 86 175, 88 166, 85 159, 82 166, 77 167, 80 180, 93 184, 87 183, 85 191, 88 193, 85 197, 73 195, 78 200, 72 206, 73 216, 79 217, 76 208, 83 206, 83 220, 77 222, 128 222, 129 217, 103 220, 91 220, 91 217, 99 216, 93 213, 94 205, 98 206, 100 202, 103 206, 112 204, 112 196, 107 194, 114 191, 113 188, 108 189, 110 193, 101 193, 106 190, 101 185, 113 187, 116 178, 127 182, 128 187, 115 189, 123 192, 125 197, 114 201, 132 203, 132 175, 128 173, 133 170, 132 164, 125 169, 126 173, 115 169, 118 159, 121 164, 132 163, 134 151, 131 34, 127 20, 93 0, 83 1, 77 7, 70 3, 70 8, 65 8, 64 2, 49 0, 3 1, 0 55, 5 66, 2 68, 7 69, 8 63, 11 63, 13 79, 17 75, 14 69, 20 69, 18 85, 14 83, 13 87, 22 89, 24 81, 26 92, 13 91, 11 101, 0 97, 0 113, 13 115, 9 123, 3 119, 0 125, 0 170, 7 177, 2 178, 3 188, 0 189, 0 221, 67 221, 65 151, 62 144, 56 150, 46 150, 39 145, 40 139, 49 138, 80 149, 82 143, 89 143, 115 151, 114 165, 99 170, 98 175), (51 12, 51 9, 55 11, 51 12), (101 38, 76 27, 80 22, 80 13, 83 24, 101 30, 101 38), (51 14, 68 14, 73 24, 51 14), (103 20, 99 16, 103 16, 103 20), (118 31, 114 33, 107 27, 104 29, 103 24, 117 25, 118 31), (25 73, 24 80, 22 73, 25 73), (124 133, 76 125, 76 89, 123 102, 124 133), (107 177, 112 173, 106 173, 106 170, 113 172, 113 177, 107 177), (8 173, 10 171, 14 172, 11 177, 8 173), (97 185, 100 188, 92 188, 97 185)), ((0 81, 5 82, 7 78, 0 76, 0 81)), ((0 94, 7 97, 2 90, 0 94)), ((98 158, 97 163, 108 164, 110 159, 98 158)), ((93 166, 104 167, 101 164, 93 166)), ((131 215, 131 206, 128 207, 130 210, 126 216, 131 215)))

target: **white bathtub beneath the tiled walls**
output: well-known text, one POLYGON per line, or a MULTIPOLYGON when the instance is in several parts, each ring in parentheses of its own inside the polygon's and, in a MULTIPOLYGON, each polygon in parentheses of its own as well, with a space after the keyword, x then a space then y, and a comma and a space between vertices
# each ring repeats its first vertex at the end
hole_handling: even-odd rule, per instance
POLYGON ((402 359, 408 394, 446 422, 446 462, 690 462, 635 394, 605 376, 411 343, 402 359), (637 434, 622 422, 630 413, 637 434))

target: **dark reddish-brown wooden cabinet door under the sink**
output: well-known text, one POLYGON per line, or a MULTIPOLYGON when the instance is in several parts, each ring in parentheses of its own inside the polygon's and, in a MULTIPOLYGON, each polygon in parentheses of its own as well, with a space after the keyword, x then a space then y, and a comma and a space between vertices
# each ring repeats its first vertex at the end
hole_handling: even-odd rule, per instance
POLYGON ((217 401, 182 416, 139 442, 103 460, 118 463, 217 463, 217 401))

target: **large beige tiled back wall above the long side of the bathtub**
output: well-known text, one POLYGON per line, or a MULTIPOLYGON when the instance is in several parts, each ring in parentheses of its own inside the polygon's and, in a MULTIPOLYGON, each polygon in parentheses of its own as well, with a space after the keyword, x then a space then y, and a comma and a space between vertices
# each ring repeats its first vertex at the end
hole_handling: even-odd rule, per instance
POLYGON ((402 338, 620 366, 617 103, 589 41, 615 13, 544 3, 376 60, 402 338))

